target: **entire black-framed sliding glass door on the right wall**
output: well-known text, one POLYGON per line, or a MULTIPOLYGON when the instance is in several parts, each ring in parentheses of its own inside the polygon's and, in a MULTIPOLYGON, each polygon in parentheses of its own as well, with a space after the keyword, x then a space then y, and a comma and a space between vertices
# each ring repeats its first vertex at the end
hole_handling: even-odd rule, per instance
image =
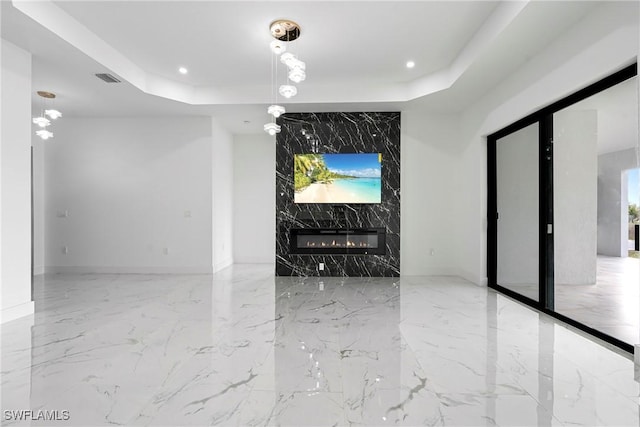
POLYGON ((487 138, 489 286, 628 351, 640 342, 636 74, 487 138))

